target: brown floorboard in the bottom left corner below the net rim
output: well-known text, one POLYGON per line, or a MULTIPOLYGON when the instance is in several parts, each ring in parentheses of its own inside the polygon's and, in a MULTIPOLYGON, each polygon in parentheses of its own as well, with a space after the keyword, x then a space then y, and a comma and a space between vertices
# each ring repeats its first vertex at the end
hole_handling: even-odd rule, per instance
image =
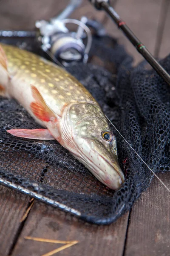
POLYGON ((0 256, 10 252, 30 198, 0 185, 0 256))

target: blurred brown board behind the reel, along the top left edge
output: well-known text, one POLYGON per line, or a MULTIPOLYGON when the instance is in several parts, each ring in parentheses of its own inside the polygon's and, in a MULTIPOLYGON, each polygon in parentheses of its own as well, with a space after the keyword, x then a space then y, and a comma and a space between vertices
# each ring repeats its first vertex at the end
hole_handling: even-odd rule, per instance
MULTIPOLYGON (((0 0, 0 29, 34 29, 36 20, 49 20, 62 12, 68 3, 69 0, 0 0)), ((83 1, 70 17, 80 19, 82 15, 97 16, 101 21, 105 17, 88 0, 83 1)))

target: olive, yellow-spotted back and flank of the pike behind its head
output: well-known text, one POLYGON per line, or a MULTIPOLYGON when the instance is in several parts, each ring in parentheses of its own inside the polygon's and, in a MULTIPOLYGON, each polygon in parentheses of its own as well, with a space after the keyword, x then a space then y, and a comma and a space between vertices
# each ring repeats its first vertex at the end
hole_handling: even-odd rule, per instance
POLYGON ((24 77, 26 82, 34 84, 52 108, 74 101, 97 104, 77 79, 52 62, 31 52, 26 54, 26 51, 16 47, 3 45, 3 49, 7 55, 9 73, 17 74, 20 79, 24 77), (55 97, 51 96, 53 94, 56 94, 55 97))

